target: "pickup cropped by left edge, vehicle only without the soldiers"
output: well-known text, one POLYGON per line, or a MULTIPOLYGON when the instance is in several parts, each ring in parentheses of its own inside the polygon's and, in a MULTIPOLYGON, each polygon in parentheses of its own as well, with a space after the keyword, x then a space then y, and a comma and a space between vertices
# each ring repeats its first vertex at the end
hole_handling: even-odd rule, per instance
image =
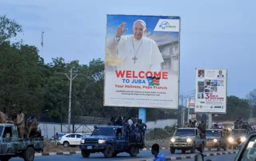
POLYGON ((34 161, 35 153, 44 151, 44 138, 19 139, 14 124, 0 124, 0 160, 8 161, 12 157, 23 158, 24 161, 34 161))

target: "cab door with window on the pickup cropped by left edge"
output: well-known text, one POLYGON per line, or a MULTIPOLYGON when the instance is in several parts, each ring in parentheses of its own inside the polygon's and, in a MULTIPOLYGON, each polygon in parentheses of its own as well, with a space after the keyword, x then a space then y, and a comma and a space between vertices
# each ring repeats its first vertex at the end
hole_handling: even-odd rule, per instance
POLYGON ((3 134, 3 148, 2 148, 3 154, 15 153, 15 150, 17 149, 14 149, 14 141, 18 141, 18 140, 15 140, 13 137, 12 126, 6 126, 4 128, 4 134, 3 134))

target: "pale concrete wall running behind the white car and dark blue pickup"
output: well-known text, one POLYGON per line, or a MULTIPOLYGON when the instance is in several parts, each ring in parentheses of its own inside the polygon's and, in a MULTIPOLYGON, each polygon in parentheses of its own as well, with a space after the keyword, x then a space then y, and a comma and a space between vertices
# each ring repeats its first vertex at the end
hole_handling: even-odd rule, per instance
MULTIPOLYGON (((48 138, 51 138, 56 132, 59 134, 68 133, 68 124, 58 124, 52 122, 38 122, 38 128, 42 130, 42 135, 46 138, 48 134, 48 138), (61 131, 62 128, 62 131, 61 131), (47 129, 47 130, 46 130, 47 129), (46 134, 47 133, 47 134, 46 134)), ((150 128, 164 128, 165 126, 174 126, 177 124, 177 119, 167 119, 167 120, 157 120, 157 121, 148 121, 146 125, 148 129, 150 128)), ((93 131, 93 126, 95 124, 75 124, 76 133, 90 135, 91 131, 93 131)), ((72 130, 72 124, 70 129, 72 130)))

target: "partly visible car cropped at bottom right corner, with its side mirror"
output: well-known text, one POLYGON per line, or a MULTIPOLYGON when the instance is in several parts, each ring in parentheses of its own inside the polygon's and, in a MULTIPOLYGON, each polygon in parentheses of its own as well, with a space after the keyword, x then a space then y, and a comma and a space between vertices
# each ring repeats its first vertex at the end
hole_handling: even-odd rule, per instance
MULTIPOLYGON (((255 151, 256 151, 256 132, 252 131, 246 137, 244 143, 237 151, 236 158, 234 161, 255 161, 255 151)), ((199 153, 195 155, 194 161, 204 161, 204 154, 199 153)), ((211 159, 207 159, 207 161, 212 161, 211 159)))

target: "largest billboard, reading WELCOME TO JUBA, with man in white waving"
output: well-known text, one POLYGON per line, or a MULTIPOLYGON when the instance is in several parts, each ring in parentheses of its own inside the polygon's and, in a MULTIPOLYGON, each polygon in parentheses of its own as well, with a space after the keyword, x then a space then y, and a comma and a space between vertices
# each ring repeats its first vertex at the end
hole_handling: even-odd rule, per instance
POLYGON ((104 106, 178 108, 180 17, 107 15, 104 106))

